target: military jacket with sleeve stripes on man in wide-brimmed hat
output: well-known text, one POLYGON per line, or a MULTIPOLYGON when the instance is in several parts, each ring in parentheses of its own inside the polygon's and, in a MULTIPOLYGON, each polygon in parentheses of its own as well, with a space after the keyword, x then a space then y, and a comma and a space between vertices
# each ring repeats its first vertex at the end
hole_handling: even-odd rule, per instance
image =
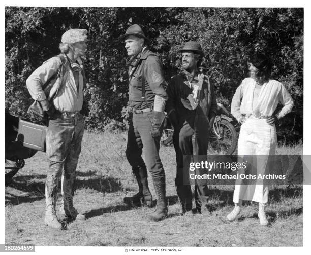
POLYGON ((159 57, 146 47, 140 57, 132 62, 134 64, 129 66, 129 102, 131 107, 135 110, 152 107, 156 95, 167 99, 163 67, 159 57), (145 85, 144 92, 143 83, 145 85))

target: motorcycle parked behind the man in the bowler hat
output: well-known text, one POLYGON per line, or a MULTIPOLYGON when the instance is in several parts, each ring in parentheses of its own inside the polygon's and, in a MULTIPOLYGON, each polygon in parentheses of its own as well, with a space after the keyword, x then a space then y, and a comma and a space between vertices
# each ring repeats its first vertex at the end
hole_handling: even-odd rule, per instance
MULTIPOLYGON (((217 103, 217 115, 209 135, 208 149, 211 154, 233 154, 237 145, 237 132, 223 104, 217 103)), ((173 144, 173 126, 167 121, 163 130, 161 143, 165 146, 173 144)))

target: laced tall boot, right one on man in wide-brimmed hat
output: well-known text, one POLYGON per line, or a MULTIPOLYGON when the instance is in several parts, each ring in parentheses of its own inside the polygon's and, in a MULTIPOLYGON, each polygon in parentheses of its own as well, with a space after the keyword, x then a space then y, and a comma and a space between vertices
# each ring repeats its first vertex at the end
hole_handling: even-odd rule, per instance
POLYGON ((163 174, 161 177, 152 177, 152 179, 155 192, 157 192, 158 202, 157 209, 148 217, 152 221, 161 221, 168 214, 167 200, 165 197, 165 175, 163 174))

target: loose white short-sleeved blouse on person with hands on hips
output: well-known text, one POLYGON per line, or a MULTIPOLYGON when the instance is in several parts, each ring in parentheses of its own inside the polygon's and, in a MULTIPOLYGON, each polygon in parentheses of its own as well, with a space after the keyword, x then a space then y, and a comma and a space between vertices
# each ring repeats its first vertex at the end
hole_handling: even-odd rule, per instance
POLYGON ((242 118, 242 115, 246 115, 246 117, 250 115, 271 117, 278 102, 283 105, 281 111, 276 114, 278 119, 292 110, 293 99, 282 83, 275 80, 264 83, 258 96, 258 102, 253 105, 255 87, 256 81, 254 79, 245 78, 236 89, 232 98, 231 113, 237 120, 242 118))

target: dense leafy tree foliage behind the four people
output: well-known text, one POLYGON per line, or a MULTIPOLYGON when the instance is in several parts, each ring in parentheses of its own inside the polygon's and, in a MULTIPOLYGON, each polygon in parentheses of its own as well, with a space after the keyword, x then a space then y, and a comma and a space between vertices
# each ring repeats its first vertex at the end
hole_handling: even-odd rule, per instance
POLYGON ((61 34, 85 28, 90 39, 84 61, 86 127, 122 128, 128 117, 127 55, 118 37, 136 23, 159 53, 168 81, 180 69, 178 49, 186 41, 199 42, 204 68, 227 107, 247 76, 248 57, 264 52, 273 61, 273 78, 287 87, 295 101, 294 112, 278 123, 278 136, 286 141, 302 137, 302 8, 7 7, 5 17, 5 102, 12 112, 25 114, 32 101, 25 80, 58 54, 61 34))

